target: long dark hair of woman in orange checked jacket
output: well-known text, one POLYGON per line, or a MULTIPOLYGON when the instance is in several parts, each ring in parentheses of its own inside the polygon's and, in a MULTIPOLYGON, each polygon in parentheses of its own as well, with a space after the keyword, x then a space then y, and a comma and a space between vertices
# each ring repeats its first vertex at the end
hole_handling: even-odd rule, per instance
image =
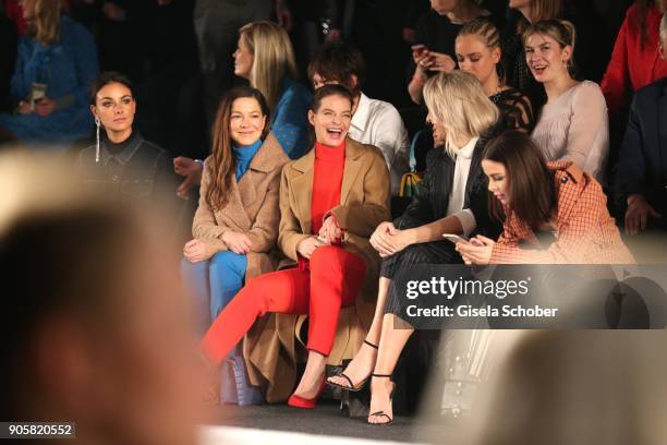
MULTIPOLYGON (((505 165, 509 184, 509 213, 533 230, 549 220, 556 205, 556 189, 544 154, 531 136, 519 130, 508 130, 488 142, 482 159, 505 165)), ((504 219, 500 202, 489 192, 490 214, 504 219)))

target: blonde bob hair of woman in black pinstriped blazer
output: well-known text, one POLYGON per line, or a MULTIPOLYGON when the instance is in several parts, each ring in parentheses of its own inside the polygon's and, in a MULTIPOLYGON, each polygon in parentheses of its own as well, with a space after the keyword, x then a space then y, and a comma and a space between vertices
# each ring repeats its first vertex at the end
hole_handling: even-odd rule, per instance
POLYGON ((445 149, 452 157, 461 144, 482 136, 500 118, 480 81, 461 70, 430 77, 424 85, 424 100, 435 123, 445 128, 445 149))

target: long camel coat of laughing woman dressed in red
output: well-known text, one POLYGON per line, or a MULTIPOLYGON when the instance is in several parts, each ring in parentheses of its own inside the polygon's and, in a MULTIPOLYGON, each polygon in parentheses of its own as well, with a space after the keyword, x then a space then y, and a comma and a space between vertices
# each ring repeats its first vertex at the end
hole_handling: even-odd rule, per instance
MULTIPOLYGON (((296 244, 311 236, 314 163, 315 151, 311 151, 282 169, 278 245, 286 257, 279 268, 296 264, 296 244)), ((343 248, 364 258, 366 277, 355 305, 340 312, 329 364, 354 357, 373 320, 380 258, 368 238, 390 219, 389 196, 389 171, 381 152, 348 139, 340 205, 330 213, 345 228, 343 248)), ((266 387, 268 401, 284 400, 294 387, 296 362, 303 358, 298 354, 304 351, 298 345, 304 342, 299 338, 304 320, 304 315, 268 314, 245 338, 248 377, 252 384, 266 387)))

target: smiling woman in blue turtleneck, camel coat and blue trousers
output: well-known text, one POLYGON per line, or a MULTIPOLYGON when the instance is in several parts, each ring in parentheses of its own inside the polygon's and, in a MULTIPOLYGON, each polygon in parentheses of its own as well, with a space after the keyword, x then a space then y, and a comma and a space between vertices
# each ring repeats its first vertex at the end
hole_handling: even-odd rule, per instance
POLYGON ((202 333, 245 280, 278 264, 280 171, 289 159, 268 133, 268 116, 264 96, 251 87, 231 89, 218 109, 194 239, 181 263, 202 333))

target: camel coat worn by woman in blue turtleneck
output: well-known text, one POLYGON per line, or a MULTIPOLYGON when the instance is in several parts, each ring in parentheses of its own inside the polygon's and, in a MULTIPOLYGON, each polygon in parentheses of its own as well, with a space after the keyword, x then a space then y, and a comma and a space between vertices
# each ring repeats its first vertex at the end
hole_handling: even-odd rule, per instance
POLYGON ((246 279, 272 272, 278 265, 275 246, 280 220, 280 171, 289 160, 276 136, 269 133, 241 180, 237 182, 232 178, 229 201, 218 211, 214 211, 206 201, 213 181, 209 165, 213 158, 208 157, 204 164, 199 206, 192 224, 192 233, 206 242, 213 252, 227 250, 221 239, 226 231, 247 234, 252 252, 246 255, 246 279))

